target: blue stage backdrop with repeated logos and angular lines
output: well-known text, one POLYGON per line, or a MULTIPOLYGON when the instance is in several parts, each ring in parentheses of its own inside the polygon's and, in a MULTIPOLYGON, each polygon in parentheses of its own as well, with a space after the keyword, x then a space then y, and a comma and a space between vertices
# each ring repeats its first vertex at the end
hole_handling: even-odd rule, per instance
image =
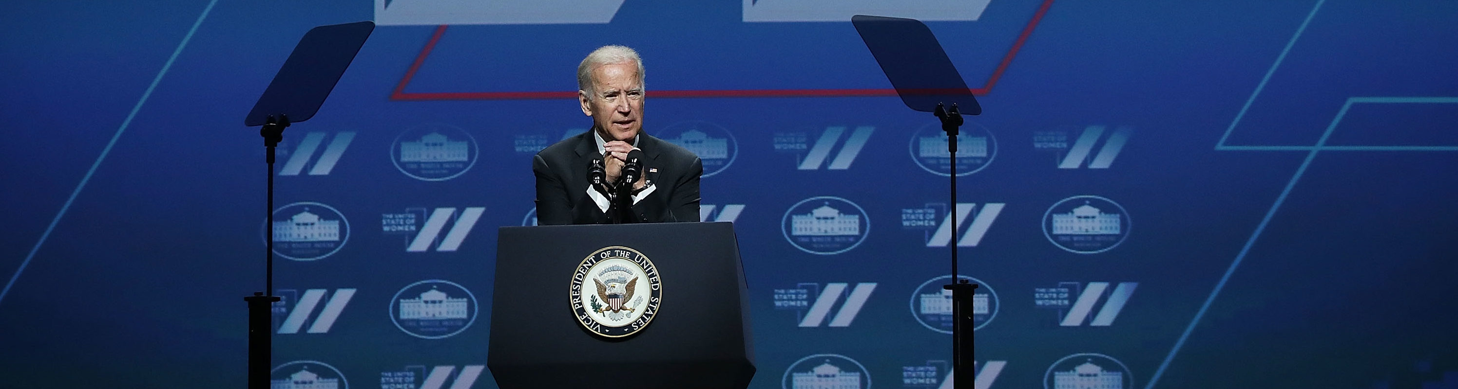
POLYGON ((293 232, 276 388, 494 388, 494 229, 534 223, 529 157, 588 128, 573 71, 605 44, 643 54, 646 131, 704 157, 701 213, 735 223, 751 388, 949 388, 949 245, 984 286, 977 388, 1458 388, 1455 1, 10 1, 0 19, 0 388, 242 385, 265 208, 242 117, 305 31, 354 20, 381 26, 271 172, 293 232), (930 20, 981 95, 962 204, 935 118, 894 98, 854 13, 930 20), (417 302, 448 309, 401 312, 417 302))

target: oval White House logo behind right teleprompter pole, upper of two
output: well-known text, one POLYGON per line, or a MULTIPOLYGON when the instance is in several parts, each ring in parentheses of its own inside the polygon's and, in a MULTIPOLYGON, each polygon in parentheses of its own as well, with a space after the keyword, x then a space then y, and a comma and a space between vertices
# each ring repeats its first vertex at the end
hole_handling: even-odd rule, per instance
MULTIPOLYGON (((956 135, 956 176, 981 172, 997 157, 997 138, 987 128, 968 122, 956 135)), ((939 176, 952 175, 952 157, 940 124, 927 124, 911 135, 911 160, 939 176)))

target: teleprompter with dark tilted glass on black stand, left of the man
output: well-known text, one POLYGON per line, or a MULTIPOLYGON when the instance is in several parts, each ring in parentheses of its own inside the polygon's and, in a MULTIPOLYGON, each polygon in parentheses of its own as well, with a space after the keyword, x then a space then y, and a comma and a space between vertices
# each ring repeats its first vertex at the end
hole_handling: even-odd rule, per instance
POLYGON ((273 83, 258 98, 254 109, 243 118, 248 127, 262 125, 268 163, 268 219, 267 219, 267 274, 264 291, 243 297, 248 302, 248 389, 268 389, 273 366, 273 176, 274 149, 283 141, 283 130, 293 122, 306 121, 319 111, 344 70, 354 61, 364 39, 375 31, 375 22, 318 26, 303 35, 289 60, 278 68, 273 83), (290 121, 290 117, 293 119, 290 121))

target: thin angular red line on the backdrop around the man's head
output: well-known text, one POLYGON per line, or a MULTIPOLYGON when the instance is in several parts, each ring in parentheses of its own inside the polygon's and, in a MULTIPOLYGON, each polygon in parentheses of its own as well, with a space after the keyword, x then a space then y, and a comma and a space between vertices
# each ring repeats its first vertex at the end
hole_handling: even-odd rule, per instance
MULTIPOLYGON (((997 63, 997 68, 993 70, 993 76, 987 79, 983 87, 972 89, 972 95, 987 95, 991 92, 993 85, 1002 77, 1007 66, 1012 64, 1012 58, 1018 55, 1018 50, 1022 44, 1028 41, 1028 35, 1032 35, 1032 29, 1038 26, 1038 20, 1042 20, 1042 15, 1048 12, 1053 6, 1053 0, 1044 0, 1038 6, 1038 12, 1032 15, 1032 20, 1022 28, 1018 34, 1018 39, 1013 41, 1012 48, 1003 55, 1002 61, 997 63)), ((528 99, 574 99, 577 92, 405 92, 405 86, 410 85, 410 79, 416 76, 420 70, 420 64, 430 57, 430 51, 436 48, 436 42, 445 35, 446 26, 437 26, 434 35, 426 42, 426 48, 416 55, 416 63, 410 64, 410 70, 405 71, 405 77, 399 79, 399 85, 389 95, 391 101, 528 101, 528 99)), ((932 90, 927 90, 932 92, 932 90)), ((650 92, 653 98, 866 98, 866 96, 895 96, 895 89, 732 89, 732 90, 653 90, 650 92)))

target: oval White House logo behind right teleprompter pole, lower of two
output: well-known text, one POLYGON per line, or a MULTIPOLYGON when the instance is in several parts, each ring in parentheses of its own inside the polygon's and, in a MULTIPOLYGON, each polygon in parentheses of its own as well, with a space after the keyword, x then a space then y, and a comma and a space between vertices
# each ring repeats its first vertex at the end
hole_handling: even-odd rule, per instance
MULTIPOLYGON (((977 291, 972 293, 972 322, 975 323, 972 329, 987 326, 1002 306, 997 300, 997 291, 981 280, 967 275, 958 275, 958 278, 978 286, 977 291)), ((952 291, 942 288, 942 286, 949 284, 948 280, 952 280, 952 275, 926 280, 911 293, 911 316, 927 329, 942 334, 952 334, 952 291)))

